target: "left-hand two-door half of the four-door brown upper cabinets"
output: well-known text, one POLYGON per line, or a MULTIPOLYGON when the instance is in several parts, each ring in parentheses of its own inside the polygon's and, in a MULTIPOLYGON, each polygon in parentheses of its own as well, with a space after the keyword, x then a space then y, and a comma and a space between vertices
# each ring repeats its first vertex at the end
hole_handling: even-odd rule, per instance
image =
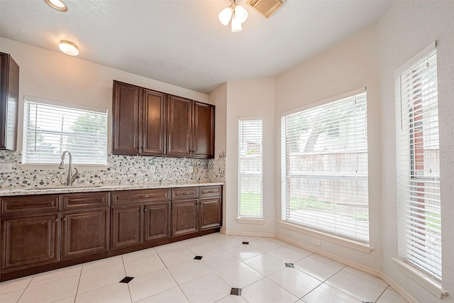
POLYGON ((166 94, 114 80, 112 153, 165 155, 166 94))

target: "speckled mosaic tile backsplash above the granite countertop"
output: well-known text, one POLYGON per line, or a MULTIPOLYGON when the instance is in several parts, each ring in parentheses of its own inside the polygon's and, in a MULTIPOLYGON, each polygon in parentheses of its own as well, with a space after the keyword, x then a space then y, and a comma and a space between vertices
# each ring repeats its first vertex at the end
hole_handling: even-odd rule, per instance
MULTIPOLYGON (((0 188, 52 187, 65 184, 67 167, 64 170, 24 168, 20 152, 0 151, 0 162, 12 163, 12 172, 0 172, 0 188)), ((67 163, 67 160, 65 161, 67 163)), ((77 167, 77 165, 72 165, 77 167)), ((74 185, 125 184, 148 182, 225 182, 226 159, 191 159, 145 157, 135 155, 109 155, 105 170, 83 170, 77 167, 79 176, 74 185), (154 162, 155 172, 150 172, 154 162), (189 172, 190 167, 193 172, 189 172)), ((73 170, 74 172, 74 170, 73 170)))

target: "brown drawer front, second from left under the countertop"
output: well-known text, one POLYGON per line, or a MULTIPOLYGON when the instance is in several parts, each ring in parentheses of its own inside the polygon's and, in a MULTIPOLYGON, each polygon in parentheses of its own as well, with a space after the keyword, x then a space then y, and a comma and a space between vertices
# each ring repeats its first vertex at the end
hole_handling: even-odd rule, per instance
POLYGON ((109 206, 109 192, 79 192, 77 194, 63 194, 63 210, 87 209, 109 206))

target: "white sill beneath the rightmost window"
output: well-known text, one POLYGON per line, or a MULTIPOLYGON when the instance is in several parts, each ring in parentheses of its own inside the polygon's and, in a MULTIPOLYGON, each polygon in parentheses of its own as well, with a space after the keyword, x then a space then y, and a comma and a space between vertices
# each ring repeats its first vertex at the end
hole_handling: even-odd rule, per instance
POLYGON ((417 268, 414 268, 404 260, 397 258, 392 258, 392 260, 394 261, 394 263, 396 263, 397 268, 404 272, 405 275, 411 277, 411 279, 413 279, 416 283, 426 288, 426 290, 428 290, 432 294, 435 294, 438 298, 443 299, 443 297, 448 295, 448 292, 446 290, 443 290, 441 282, 439 282, 438 280, 435 280, 433 279, 433 277, 430 277, 417 268))

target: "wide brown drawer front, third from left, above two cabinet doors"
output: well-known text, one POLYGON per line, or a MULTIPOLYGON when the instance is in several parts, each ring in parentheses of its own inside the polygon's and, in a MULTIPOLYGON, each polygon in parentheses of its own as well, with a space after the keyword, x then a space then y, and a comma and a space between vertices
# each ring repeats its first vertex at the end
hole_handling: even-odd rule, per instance
POLYGON ((138 204, 170 200, 170 189, 140 189, 112 192, 112 204, 138 204))

